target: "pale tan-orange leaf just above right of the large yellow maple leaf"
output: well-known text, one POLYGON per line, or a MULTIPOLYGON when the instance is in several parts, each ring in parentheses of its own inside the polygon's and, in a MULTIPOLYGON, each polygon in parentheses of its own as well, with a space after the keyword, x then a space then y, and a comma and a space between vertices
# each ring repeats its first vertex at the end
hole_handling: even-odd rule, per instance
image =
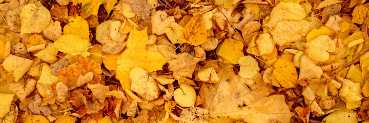
POLYGON ((156 11, 151 19, 152 33, 157 35, 164 34, 164 30, 170 27, 172 23, 174 23, 173 16, 168 16, 164 11, 156 11))

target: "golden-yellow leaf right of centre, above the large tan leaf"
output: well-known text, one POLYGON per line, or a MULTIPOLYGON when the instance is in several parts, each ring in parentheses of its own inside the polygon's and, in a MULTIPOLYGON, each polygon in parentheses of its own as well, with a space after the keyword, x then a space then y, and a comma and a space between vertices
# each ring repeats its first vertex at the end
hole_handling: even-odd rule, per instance
POLYGON ((232 64, 238 64, 238 58, 244 56, 243 44, 235 39, 226 38, 219 47, 218 55, 230 61, 232 64))

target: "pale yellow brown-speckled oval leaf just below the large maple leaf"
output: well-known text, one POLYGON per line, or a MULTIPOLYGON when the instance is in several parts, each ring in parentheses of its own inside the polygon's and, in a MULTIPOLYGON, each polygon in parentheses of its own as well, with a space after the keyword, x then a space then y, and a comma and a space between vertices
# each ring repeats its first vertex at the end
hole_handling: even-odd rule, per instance
POLYGON ((133 68, 131 70, 131 90, 138 95, 151 101, 159 97, 159 87, 157 87, 154 78, 142 68, 133 68))

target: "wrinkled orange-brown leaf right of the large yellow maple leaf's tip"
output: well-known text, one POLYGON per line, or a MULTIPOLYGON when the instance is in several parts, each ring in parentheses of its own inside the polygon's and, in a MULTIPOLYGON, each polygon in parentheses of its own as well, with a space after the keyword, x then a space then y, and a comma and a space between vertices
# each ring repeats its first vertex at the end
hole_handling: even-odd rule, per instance
POLYGON ((200 61, 200 59, 191 54, 180 53, 178 54, 178 58, 173 58, 168 61, 168 68, 173 71, 174 79, 179 79, 180 77, 191 78, 198 61, 200 61))

